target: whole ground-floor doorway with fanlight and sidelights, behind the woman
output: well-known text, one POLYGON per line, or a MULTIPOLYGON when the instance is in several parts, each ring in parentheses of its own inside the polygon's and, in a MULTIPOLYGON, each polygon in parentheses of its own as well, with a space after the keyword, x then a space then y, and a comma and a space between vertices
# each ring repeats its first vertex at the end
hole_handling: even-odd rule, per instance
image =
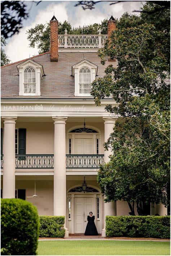
POLYGON ((97 231, 101 233, 101 200, 98 188, 87 185, 84 193, 82 186, 70 188, 67 192, 67 227, 69 234, 84 234, 89 212, 95 215, 97 231))

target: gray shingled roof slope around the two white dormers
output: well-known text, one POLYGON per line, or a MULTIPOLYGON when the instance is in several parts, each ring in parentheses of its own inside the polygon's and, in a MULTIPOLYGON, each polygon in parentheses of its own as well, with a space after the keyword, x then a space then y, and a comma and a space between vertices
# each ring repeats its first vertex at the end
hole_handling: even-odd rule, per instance
MULTIPOLYGON (((104 70, 109 64, 103 66, 96 52, 59 52, 58 62, 50 61, 50 54, 38 55, 34 61, 43 65, 45 76, 42 78, 40 96, 19 96, 19 73, 17 65, 23 61, 1 68, 1 98, 86 98, 74 96, 75 80, 72 74, 72 66, 84 58, 98 66, 97 77, 104 75, 104 70)), ((92 98, 92 97, 87 97, 92 98)))

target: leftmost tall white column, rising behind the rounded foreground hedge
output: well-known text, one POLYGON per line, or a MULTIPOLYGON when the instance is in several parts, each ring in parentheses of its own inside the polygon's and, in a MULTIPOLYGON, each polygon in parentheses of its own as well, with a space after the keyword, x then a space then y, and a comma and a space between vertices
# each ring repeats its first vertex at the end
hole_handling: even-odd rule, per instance
POLYGON ((15 198, 15 124, 17 117, 4 120, 3 198, 15 198))

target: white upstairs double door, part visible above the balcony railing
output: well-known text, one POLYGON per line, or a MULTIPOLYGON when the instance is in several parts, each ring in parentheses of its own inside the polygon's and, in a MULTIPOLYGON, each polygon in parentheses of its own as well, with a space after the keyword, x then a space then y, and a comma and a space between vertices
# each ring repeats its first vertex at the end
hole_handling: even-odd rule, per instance
POLYGON ((75 154, 76 155, 93 154, 93 139, 75 138, 75 154))

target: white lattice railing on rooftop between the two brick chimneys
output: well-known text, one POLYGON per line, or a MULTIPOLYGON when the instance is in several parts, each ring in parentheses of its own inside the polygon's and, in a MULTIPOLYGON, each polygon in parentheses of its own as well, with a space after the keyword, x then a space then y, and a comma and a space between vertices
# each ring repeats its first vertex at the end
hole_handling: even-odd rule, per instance
MULTIPOLYGON (((101 30, 98 30, 98 32, 101 30)), ((68 35, 65 30, 65 35, 58 35, 59 48, 102 48, 105 44, 108 35, 68 35)))

